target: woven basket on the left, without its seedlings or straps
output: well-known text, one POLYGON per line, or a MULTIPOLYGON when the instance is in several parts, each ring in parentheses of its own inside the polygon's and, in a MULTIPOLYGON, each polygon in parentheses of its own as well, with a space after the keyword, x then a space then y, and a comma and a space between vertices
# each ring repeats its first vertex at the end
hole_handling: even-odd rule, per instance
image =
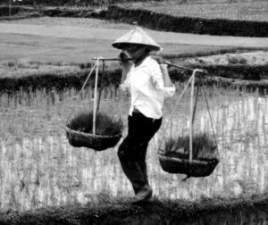
POLYGON ((114 136, 93 135, 65 127, 66 135, 71 146, 88 147, 96 151, 103 151, 116 146, 121 139, 121 134, 114 136))

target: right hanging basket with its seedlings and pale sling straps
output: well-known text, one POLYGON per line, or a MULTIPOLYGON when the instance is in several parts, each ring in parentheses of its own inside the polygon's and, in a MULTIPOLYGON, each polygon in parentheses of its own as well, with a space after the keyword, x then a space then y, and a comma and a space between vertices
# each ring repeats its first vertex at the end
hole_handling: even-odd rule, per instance
MULTIPOLYGON (((161 145, 158 149, 159 162, 163 171, 186 174, 187 178, 209 176, 219 162, 215 135, 214 138, 211 138, 205 133, 193 136, 193 122, 199 91, 198 85, 194 104, 194 84, 196 72, 197 70, 194 70, 192 77, 188 80, 188 84, 191 82, 189 135, 184 137, 165 138, 165 143, 163 145, 164 149, 161 149, 161 145)), ((182 91, 178 102, 180 101, 181 96, 183 96, 188 84, 182 91)), ((205 92, 204 96, 207 111, 210 115, 210 121, 212 127, 214 127, 205 92)))

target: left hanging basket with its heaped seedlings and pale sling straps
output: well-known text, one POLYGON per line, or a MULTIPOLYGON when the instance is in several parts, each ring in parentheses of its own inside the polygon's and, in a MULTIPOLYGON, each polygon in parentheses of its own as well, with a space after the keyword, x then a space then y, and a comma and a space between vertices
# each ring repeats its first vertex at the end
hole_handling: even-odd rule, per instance
MULTIPOLYGON (((121 138, 122 122, 115 120, 106 115, 104 112, 98 112, 101 90, 99 89, 99 97, 97 103, 97 75, 98 75, 98 59, 91 69, 90 74, 96 67, 95 93, 94 93, 94 109, 93 112, 80 112, 71 121, 69 116, 66 124, 66 135, 71 146, 88 147, 96 151, 102 151, 109 147, 115 146, 121 138)), ((105 66, 103 67, 104 70, 105 66)), ((80 93, 85 87, 88 79, 85 81, 80 93)))

